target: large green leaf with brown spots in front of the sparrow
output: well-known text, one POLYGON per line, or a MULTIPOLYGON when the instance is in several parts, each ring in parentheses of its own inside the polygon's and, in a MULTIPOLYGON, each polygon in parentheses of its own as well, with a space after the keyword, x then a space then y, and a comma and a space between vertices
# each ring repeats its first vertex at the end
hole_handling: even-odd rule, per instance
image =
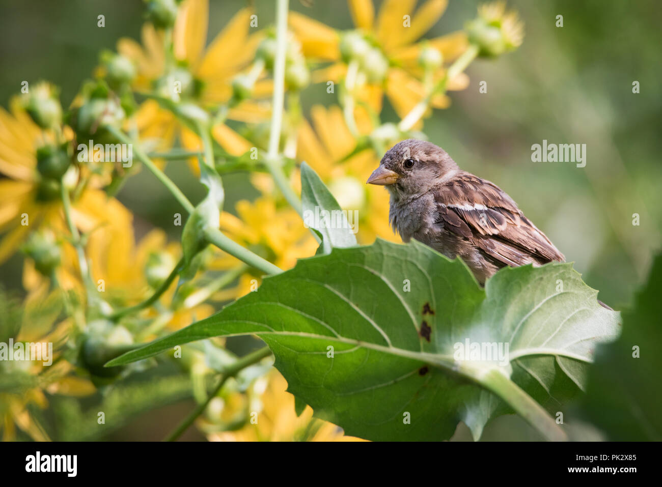
POLYGON ((487 421, 516 410, 561 439, 538 403, 558 411, 583 387, 596 341, 616 335, 618 313, 596 294, 567 263, 502 269, 483 289, 459 259, 378 240, 301 260, 214 316, 107 365, 256 333, 289 392, 348 435, 443 440, 464 421, 477 439, 487 421), (487 357, 487 347, 461 357, 467 340, 468 351, 508 345, 507 360, 490 361, 504 357, 487 357))

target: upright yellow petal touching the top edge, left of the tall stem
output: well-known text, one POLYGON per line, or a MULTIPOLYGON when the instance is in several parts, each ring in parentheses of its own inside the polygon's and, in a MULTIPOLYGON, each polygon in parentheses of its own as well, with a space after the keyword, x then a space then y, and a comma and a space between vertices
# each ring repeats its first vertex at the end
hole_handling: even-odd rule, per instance
POLYGON ((175 58, 186 61, 195 71, 207 41, 209 3, 207 0, 185 0, 179 7, 173 28, 175 58))

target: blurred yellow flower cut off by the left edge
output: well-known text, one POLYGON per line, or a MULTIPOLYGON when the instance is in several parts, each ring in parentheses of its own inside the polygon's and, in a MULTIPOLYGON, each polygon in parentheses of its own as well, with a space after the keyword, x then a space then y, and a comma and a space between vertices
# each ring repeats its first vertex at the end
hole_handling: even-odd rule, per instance
MULTIPOLYGON (((26 236, 40 226, 53 228, 58 236, 68 235, 64 224, 60 183, 41 174, 37 167, 38 146, 54 144, 51 131, 43 131, 32 122, 21 108, 19 97, 11 103, 11 113, 0 107, 0 263, 9 258, 26 236)), ((71 138, 66 128, 65 138, 71 138)), ((103 225, 121 224, 128 218, 128 211, 115 199, 109 199, 97 189, 101 181, 87 174, 89 183, 81 195, 72 202, 74 224, 83 232, 103 225)), ((77 168, 71 166, 65 179, 78 180, 77 168)), ((69 287, 70 283, 62 285, 69 287)))

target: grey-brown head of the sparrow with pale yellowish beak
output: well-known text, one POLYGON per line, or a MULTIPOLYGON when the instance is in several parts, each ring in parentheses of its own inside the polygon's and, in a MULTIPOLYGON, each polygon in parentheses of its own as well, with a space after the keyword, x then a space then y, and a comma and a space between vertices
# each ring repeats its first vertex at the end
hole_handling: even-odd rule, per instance
POLYGON ((384 154, 367 183, 385 186, 394 197, 416 197, 457 171, 457 164, 442 148, 407 139, 384 154))

